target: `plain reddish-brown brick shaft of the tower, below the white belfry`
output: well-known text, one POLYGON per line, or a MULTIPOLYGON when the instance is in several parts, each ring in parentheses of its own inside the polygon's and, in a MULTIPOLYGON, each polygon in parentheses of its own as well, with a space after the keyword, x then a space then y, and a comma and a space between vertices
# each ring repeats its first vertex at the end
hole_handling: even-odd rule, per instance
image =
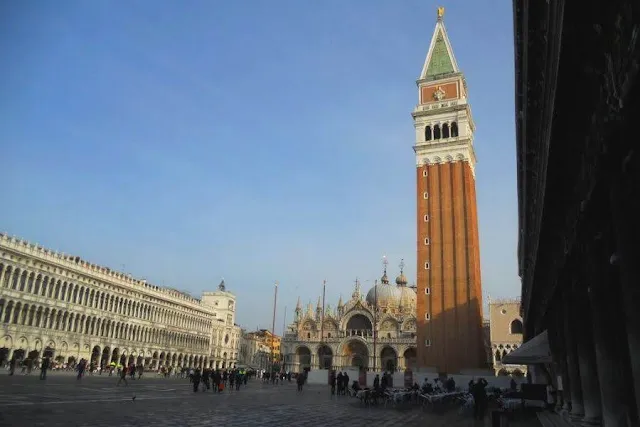
POLYGON ((486 358, 473 173, 466 162, 421 166, 416 188, 418 363, 448 373, 482 367, 486 358), (431 346, 425 346, 426 339, 431 346))

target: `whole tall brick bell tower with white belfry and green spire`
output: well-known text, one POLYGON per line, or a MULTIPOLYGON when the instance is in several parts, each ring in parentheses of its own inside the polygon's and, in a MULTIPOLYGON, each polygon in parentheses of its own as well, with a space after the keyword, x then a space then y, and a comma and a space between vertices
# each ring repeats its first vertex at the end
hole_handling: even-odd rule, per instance
POLYGON ((486 365, 473 150, 467 85, 437 21, 417 81, 417 364, 458 373, 486 365))

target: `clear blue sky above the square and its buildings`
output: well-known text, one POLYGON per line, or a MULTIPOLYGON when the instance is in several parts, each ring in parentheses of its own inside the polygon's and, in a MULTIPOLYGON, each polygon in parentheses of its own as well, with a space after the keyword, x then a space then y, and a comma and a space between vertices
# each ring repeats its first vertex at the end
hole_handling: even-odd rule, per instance
MULTIPOLYGON (((424 0, 7 1, 0 229, 199 295, 277 331, 297 296, 415 280, 424 0), (369 282, 367 282, 369 281, 369 282)), ((484 292, 519 294, 512 10, 445 23, 466 74, 484 292)))

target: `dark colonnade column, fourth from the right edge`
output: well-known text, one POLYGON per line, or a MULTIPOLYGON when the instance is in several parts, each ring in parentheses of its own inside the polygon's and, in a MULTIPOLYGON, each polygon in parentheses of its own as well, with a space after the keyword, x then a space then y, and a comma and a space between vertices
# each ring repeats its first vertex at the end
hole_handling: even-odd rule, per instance
MULTIPOLYGON (((565 289, 564 300, 571 301, 571 289, 565 289)), ((578 368, 578 351, 575 339, 574 310, 570 304, 564 306, 564 336, 567 350, 567 373, 571 382, 571 418, 580 420, 584 417, 584 404, 582 397, 582 383, 580 381, 580 369, 578 368)), ((581 325, 578 325, 580 328, 581 325)))

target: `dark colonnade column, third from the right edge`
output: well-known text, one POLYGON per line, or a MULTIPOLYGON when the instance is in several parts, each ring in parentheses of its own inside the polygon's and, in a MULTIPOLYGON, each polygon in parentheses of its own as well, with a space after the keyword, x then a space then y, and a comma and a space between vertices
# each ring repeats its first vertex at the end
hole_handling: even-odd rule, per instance
MULTIPOLYGON (((581 257, 580 262, 584 262, 581 257)), ((582 266, 579 273, 583 273, 582 266)), ((580 274, 578 281, 573 283, 573 314, 574 332, 578 349, 578 366, 580 371, 580 384, 582 385, 582 398, 584 403, 583 425, 598 425, 602 419, 602 405, 600 403, 600 384, 598 369, 596 367, 596 354, 593 343, 592 318, 589 307, 587 285, 584 283, 584 275, 580 274), (580 315, 578 315, 580 313, 580 315)))

